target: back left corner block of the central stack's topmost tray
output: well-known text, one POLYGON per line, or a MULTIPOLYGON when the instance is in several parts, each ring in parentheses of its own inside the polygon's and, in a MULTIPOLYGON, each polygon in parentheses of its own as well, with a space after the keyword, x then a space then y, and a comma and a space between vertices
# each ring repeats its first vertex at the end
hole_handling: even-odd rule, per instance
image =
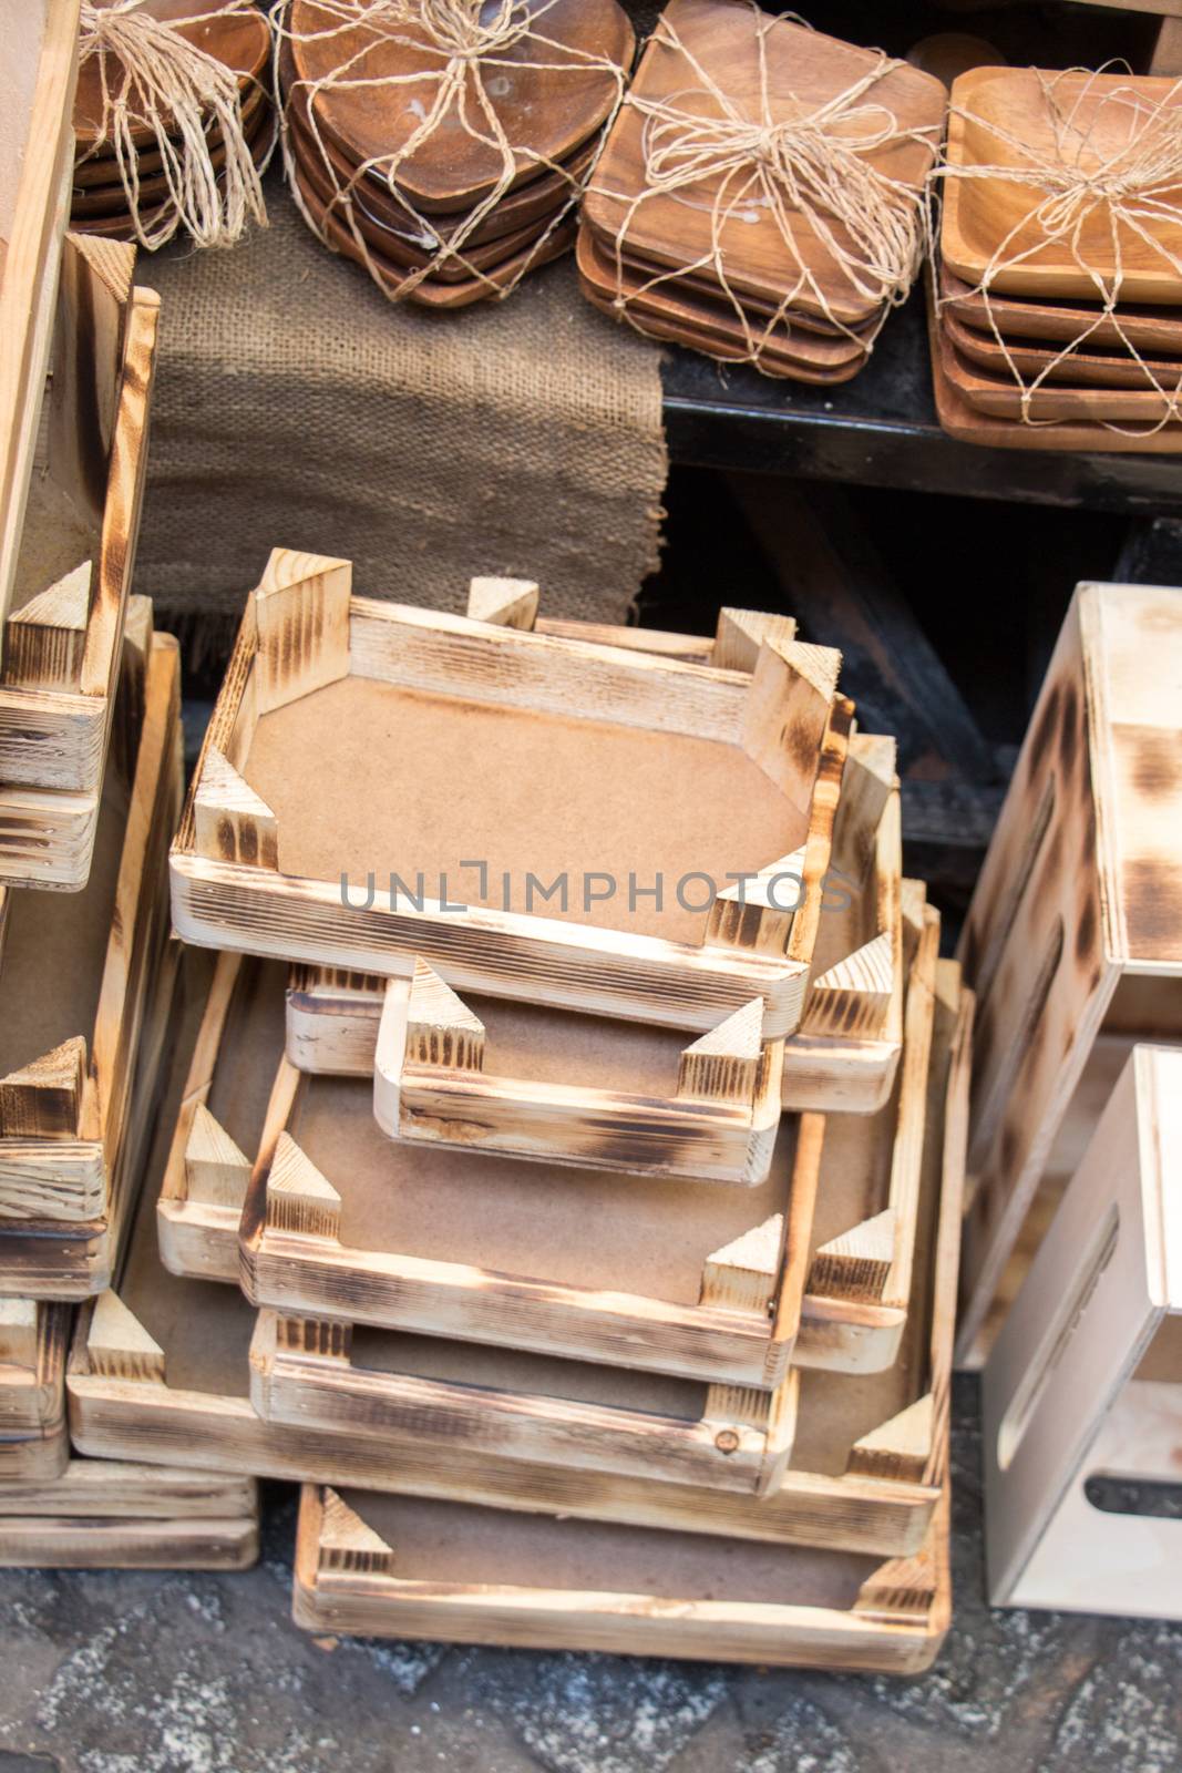
POLYGON ((349 674, 353 562, 273 548, 255 590, 259 713, 349 674))

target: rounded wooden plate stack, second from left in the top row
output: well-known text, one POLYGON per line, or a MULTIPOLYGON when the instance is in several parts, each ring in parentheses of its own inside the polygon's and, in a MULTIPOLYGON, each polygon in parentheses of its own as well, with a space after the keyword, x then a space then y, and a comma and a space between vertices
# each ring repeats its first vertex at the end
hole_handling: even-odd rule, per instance
POLYGON ((315 232, 390 296, 436 309, 496 296, 562 254, 633 60, 617 0, 532 0, 537 34, 470 64, 422 140, 447 57, 413 7, 397 27, 365 18, 363 0, 354 11, 294 0, 284 28, 287 172, 315 232))

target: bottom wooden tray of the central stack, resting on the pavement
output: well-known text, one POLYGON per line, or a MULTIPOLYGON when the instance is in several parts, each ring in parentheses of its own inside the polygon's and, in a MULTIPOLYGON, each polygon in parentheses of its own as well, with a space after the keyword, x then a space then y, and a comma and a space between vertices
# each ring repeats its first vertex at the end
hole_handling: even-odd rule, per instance
POLYGON ((299 1502, 308 1631, 916 1674, 950 1615, 943 1504, 918 1557, 879 1564, 349 1489, 299 1502))

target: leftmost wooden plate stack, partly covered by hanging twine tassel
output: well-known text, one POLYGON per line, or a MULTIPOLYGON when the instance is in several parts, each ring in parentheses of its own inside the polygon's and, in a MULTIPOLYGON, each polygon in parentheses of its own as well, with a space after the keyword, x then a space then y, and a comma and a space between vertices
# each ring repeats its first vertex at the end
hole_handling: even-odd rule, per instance
MULTIPOLYGON (((99 0, 112 4, 112 0, 99 0)), ((142 11, 161 23, 172 25, 181 37, 237 73, 241 92, 243 133, 255 165, 261 165, 273 144, 275 124, 268 96, 268 62, 271 32, 266 16, 243 9, 241 0, 142 0, 142 11)), ((121 96, 126 69, 117 55, 105 51, 89 55, 78 69, 74 98, 74 188, 71 197, 71 227, 112 239, 135 239, 136 227, 129 213, 129 191, 135 195, 140 227, 158 229, 175 215, 170 177, 165 170, 161 144, 154 122, 144 115, 147 101, 133 87, 131 149, 133 165, 121 167, 117 144, 110 131, 110 113, 103 94, 121 96)), ((168 131, 170 121, 161 119, 168 131)), ((206 128, 209 158, 214 170, 225 165, 225 144, 216 119, 206 128)), ((174 137, 177 152, 183 144, 174 137)))

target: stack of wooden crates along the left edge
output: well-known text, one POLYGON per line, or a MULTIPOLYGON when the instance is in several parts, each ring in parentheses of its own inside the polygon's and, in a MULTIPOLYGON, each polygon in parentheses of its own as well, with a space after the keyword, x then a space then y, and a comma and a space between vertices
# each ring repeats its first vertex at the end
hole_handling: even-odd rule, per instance
POLYGON ((71 1459, 76 1301, 154 1108, 175 642, 131 596, 158 298, 64 236, 78 0, 19 7, 0 131, 0 1564, 239 1564, 253 1486, 71 1459), (213 1498, 218 1505, 213 1507, 213 1498), (195 1530, 198 1521, 198 1530, 195 1530))

